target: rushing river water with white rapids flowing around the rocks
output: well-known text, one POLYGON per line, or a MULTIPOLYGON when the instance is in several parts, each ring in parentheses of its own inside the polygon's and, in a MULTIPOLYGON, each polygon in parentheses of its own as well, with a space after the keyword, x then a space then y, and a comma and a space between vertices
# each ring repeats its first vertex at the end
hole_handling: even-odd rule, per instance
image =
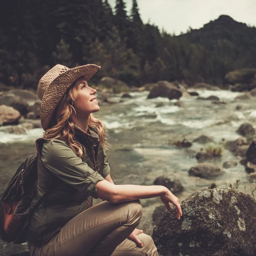
MULTIPOLYGON (((218 186, 225 186, 239 179, 240 188, 244 191, 246 186, 247 192, 250 191, 250 187, 255 184, 249 183, 244 167, 239 164, 239 157, 224 150, 221 158, 211 162, 222 166, 227 160, 235 160, 238 163, 236 167, 224 169, 224 175, 212 180, 190 177, 188 170, 198 164, 193 156, 204 145, 193 143, 191 148, 183 149, 172 143, 183 138, 192 141, 201 135, 211 137, 215 144, 241 137, 236 129, 242 123, 250 122, 256 128, 256 98, 238 100, 236 97, 242 93, 227 90, 196 91, 201 97, 218 96, 220 101, 227 104, 215 105, 211 101, 198 100, 196 96, 187 96, 180 99, 183 104, 178 107, 175 105, 177 100, 146 99, 148 92, 140 92, 130 93, 132 99, 122 99, 123 102, 101 106, 99 115, 110 135, 111 148, 107 154, 111 164, 111 177, 116 184, 151 185, 160 175, 174 174, 184 187, 183 192, 177 194, 180 200, 209 186, 212 181, 218 186), (241 105, 241 110, 236 110, 237 105, 241 105)), ((113 98, 119 101, 120 96, 115 95, 113 98)), ((32 145, 42 134, 43 130, 40 128, 27 131, 25 135, 0 132, 0 143, 10 147, 14 142, 32 145)), ((142 200, 142 204, 145 208, 143 228, 150 233, 151 214, 160 200, 151 198, 142 200)))

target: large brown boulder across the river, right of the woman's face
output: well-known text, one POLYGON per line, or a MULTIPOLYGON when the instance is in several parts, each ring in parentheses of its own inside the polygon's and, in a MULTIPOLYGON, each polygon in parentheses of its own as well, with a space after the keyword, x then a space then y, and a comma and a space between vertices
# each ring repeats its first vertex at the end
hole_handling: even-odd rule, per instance
POLYGON ((166 97, 168 99, 180 99, 182 92, 177 89, 174 85, 160 81, 154 86, 148 94, 148 99, 154 99, 157 97, 166 97))

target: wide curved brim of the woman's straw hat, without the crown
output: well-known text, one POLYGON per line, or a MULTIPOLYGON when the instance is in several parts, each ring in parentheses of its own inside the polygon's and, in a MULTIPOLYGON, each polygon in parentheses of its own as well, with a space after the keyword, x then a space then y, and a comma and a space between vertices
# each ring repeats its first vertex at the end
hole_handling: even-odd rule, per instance
POLYGON ((62 73, 49 84, 49 87, 44 93, 40 111, 41 125, 44 131, 47 130, 51 122, 55 108, 73 82, 81 76, 84 76, 84 79, 89 81, 99 68, 100 66, 94 64, 74 67, 62 73))

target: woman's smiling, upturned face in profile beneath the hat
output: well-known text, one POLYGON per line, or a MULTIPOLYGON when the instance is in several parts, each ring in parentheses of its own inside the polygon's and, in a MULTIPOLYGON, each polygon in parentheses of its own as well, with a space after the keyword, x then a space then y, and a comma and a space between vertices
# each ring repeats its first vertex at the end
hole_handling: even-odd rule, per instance
POLYGON ((76 116, 89 115, 99 111, 99 105, 96 101, 95 89, 88 86, 87 81, 83 77, 76 80, 76 86, 78 87, 78 98, 73 104, 76 110, 76 116))

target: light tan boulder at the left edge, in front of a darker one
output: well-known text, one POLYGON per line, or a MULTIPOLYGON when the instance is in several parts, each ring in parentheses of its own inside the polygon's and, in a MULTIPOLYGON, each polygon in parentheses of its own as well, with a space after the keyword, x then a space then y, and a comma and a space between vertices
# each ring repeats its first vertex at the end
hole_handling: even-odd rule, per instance
POLYGON ((16 109, 6 105, 0 105, 0 126, 17 124, 20 117, 20 112, 16 109))

